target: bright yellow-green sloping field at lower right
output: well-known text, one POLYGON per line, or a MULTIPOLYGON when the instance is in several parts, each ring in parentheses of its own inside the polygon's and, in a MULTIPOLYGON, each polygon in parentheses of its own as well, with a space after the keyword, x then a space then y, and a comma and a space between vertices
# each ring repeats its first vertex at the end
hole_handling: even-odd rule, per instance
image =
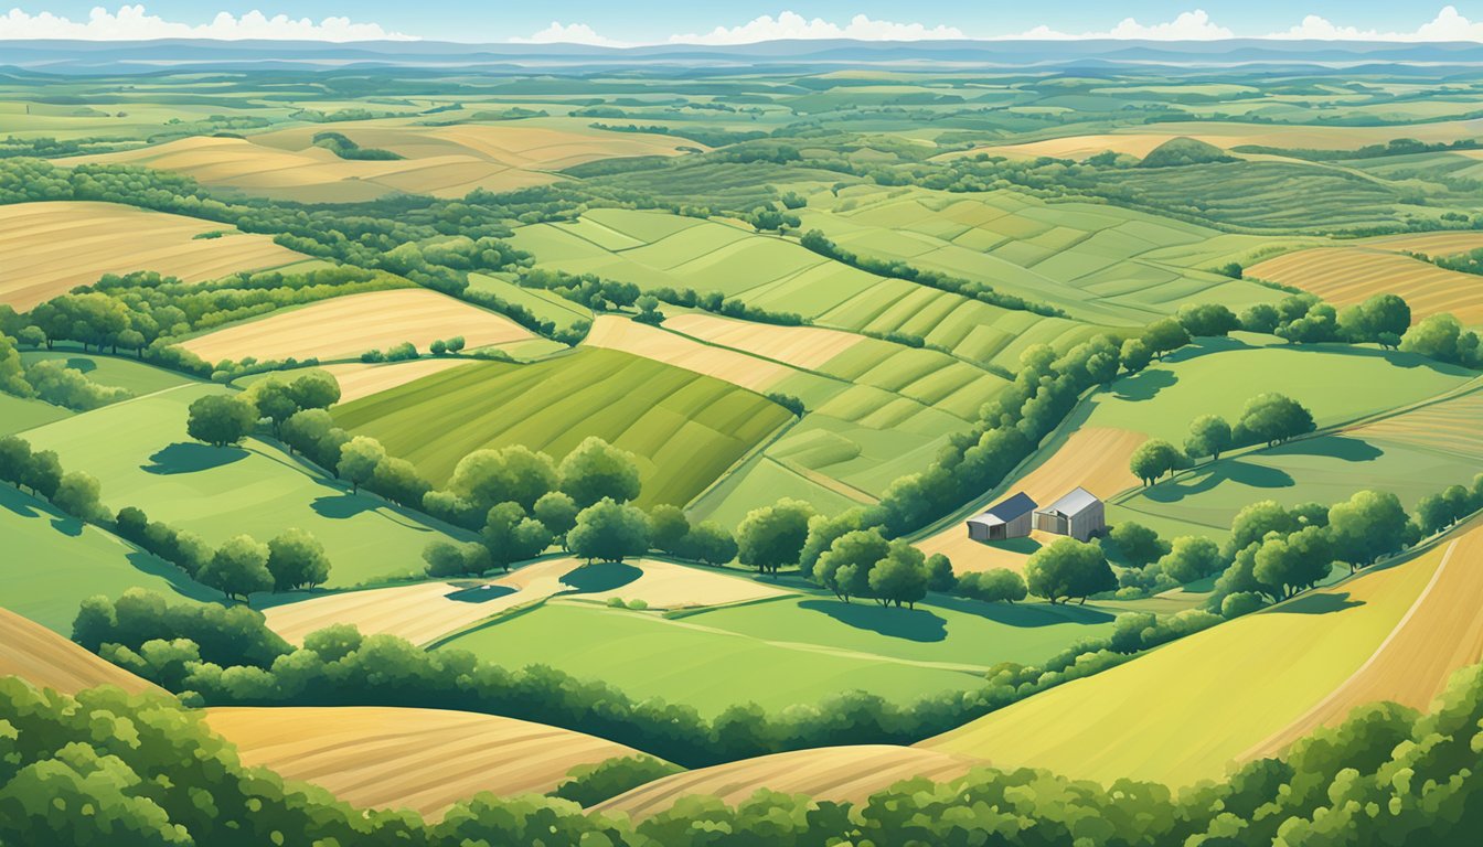
POLYGON ((1105 783, 1221 777, 1228 762, 1252 755, 1361 669, 1446 550, 1191 635, 921 746, 1105 783))

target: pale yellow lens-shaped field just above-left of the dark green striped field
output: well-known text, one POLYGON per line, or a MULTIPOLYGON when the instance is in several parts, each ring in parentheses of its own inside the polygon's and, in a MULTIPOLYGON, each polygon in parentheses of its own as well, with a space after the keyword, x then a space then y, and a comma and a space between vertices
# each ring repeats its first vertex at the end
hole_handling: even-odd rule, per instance
POLYGON ((420 288, 372 291, 286 309, 184 341, 208 362, 221 359, 346 359, 411 341, 420 352, 439 338, 463 335, 469 349, 523 341, 519 323, 420 288))

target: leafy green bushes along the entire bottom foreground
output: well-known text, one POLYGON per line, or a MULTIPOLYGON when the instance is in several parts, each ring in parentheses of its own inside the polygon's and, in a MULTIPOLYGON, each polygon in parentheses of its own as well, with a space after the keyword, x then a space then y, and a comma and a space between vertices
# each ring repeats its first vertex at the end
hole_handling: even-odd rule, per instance
MULTIPOLYGON (((248 770, 199 712, 169 697, 96 688, 74 699, 4 678, 0 844, 1470 844, 1483 828, 1480 721, 1476 666, 1455 675, 1428 715, 1367 706, 1299 740, 1286 759, 1253 761, 1179 794, 1146 782, 1105 788, 977 768, 946 783, 903 782, 862 804, 764 791, 737 807, 685 798, 632 823, 567 800, 483 794, 426 823, 411 813, 359 811, 248 770)), ((599 765, 568 786, 596 786, 599 773, 626 783, 632 770, 599 765)))

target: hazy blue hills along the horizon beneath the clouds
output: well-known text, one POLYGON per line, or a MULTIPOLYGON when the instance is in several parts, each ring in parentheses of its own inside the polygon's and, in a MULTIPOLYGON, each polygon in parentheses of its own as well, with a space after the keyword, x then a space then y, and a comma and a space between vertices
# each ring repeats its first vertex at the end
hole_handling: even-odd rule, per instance
POLYGON ((905 65, 1066 67, 1081 64, 1212 68, 1229 65, 1483 67, 1477 42, 1152 40, 780 40, 755 45, 461 45, 451 42, 0 40, 0 67, 42 73, 157 73, 179 68, 457 67, 482 70, 905 65))

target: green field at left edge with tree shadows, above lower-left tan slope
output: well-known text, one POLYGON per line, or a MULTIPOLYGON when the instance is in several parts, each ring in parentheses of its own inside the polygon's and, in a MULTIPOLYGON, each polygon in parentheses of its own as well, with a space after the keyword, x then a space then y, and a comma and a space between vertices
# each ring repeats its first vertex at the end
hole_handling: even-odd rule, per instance
POLYGON ((218 596, 175 565, 3 484, 0 537, 0 605, 64 635, 73 630, 77 607, 95 595, 117 598, 142 587, 172 596, 218 596))

